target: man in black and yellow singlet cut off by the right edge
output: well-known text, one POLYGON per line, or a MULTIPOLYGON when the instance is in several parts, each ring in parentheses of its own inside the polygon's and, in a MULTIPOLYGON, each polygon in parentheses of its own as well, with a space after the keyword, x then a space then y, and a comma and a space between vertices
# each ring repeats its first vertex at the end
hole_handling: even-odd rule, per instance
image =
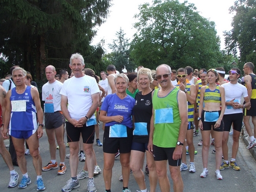
POLYGON ((256 145, 256 75, 253 73, 254 65, 252 62, 246 62, 244 65, 244 77, 245 87, 247 88, 248 97, 250 99, 250 106, 246 107, 244 111, 244 125, 245 129, 250 137, 250 143, 246 147, 247 150, 256 145), (252 108, 251 108, 252 106, 252 108), (254 126, 254 136, 251 131, 250 117, 254 126))

